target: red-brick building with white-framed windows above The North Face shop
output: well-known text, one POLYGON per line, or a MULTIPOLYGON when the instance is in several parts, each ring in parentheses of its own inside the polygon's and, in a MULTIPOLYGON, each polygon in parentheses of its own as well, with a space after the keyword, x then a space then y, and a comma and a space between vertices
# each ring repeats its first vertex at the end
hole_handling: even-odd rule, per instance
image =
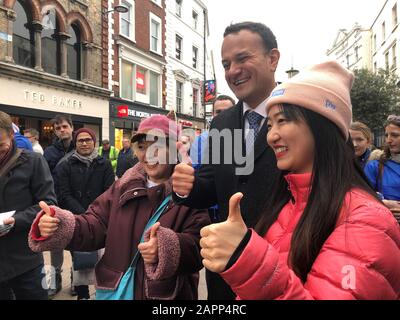
MULTIPOLYGON (((127 13, 108 16, 108 88, 110 141, 121 147, 140 121, 165 110, 165 1, 109 0, 108 8, 123 5, 127 13), (121 116, 121 108, 126 112, 121 116)), ((105 33, 106 30, 103 30, 105 33)), ((104 63, 104 62, 103 62, 104 63)))

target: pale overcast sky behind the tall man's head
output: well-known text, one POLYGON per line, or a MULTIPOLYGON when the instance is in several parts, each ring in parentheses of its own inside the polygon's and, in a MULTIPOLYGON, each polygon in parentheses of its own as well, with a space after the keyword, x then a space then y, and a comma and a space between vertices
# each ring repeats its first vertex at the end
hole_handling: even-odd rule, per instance
POLYGON ((203 0, 209 10, 210 41, 214 50, 218 92, 231 94, 221 66, 225 27, 232 22, 265 23, 274 32, 281 59, 276 79, 285 81, 286 70, 321 61, 339 29, 355 22, 371 27, 385 0, 203 0))

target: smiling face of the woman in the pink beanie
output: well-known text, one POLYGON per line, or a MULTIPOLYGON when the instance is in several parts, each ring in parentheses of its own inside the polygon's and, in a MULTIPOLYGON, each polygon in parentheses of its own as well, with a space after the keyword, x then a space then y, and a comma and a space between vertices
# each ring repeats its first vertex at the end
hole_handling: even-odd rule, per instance
POLYGON ((268 112, 267 142, 275 152, 280 170, 292 173, 312 172, 314 137, 304 120, 288 120, 280 105, 268 112))

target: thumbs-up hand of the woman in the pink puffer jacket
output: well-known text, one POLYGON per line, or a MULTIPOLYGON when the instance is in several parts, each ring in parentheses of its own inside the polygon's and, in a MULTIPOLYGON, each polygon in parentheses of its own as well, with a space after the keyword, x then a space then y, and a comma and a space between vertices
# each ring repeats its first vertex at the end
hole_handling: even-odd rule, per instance
POLYGON ((225 222, 212 224, 200 231, 203 265, 212 272, 225 270, 229 259, 243 240, 247 226, 240 212, 242 193, 234 194, 229 200, 229 216, 225 222))

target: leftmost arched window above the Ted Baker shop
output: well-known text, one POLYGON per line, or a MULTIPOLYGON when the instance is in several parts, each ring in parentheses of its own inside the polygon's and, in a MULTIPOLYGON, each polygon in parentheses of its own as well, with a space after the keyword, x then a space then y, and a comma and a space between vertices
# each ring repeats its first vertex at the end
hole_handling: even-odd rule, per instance
POLYGON ((14 6, 17 19, 14 22, 13 58, 16 64, 33 68, 35 66, 35 35, 32 17, 25 1, 17 1, 14 6))

